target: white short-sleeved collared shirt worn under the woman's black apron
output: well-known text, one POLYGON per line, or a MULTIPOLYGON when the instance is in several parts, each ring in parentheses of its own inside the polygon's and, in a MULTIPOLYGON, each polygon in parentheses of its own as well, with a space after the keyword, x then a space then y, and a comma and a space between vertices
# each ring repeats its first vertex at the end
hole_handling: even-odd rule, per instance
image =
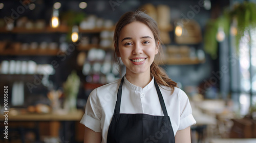
MULTIPOLYGON (((87 101, 81 124, 95 132, 101 132, 102 142, 106 142, 109 125, 114 113, 120 80, 94 89, 87 101)), ((196 124, 188 97, 175 87, 173 94, 169 87, 159 85, 164 103, 173 126, 174 134, 196 124)), ((144 88, 133 85, 124 76, 120 113, 144 113, 163 115, 158 99, 154 78, 144 88)))

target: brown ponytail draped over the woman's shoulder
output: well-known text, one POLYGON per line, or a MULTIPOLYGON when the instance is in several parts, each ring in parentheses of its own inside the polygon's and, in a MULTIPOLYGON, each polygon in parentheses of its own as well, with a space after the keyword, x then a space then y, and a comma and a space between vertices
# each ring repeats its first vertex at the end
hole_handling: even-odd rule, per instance
POLYGON ((178 87, 177 83, 170 79, 165 71, 154 62, 150 66, 150 73, 154 76, 158 84, 170 87, 172 93, 174 92, 174 87, 178 87))

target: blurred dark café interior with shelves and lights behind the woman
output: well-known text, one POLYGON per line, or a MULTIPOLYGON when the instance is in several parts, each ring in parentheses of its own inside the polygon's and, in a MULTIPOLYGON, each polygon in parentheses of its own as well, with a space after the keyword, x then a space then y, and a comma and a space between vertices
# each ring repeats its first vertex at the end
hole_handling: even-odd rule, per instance
POLYGON ((191 142, 256 142, 256 1, 243 0, 0 1, 1 142, 83 142, 90 92, 124 73, 115 24, 139 8, 189 97, 191 142))

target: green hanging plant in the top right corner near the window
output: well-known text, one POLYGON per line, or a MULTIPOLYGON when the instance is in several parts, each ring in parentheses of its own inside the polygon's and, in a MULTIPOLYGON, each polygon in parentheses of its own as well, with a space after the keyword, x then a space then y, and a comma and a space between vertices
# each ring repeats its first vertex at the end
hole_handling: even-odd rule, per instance
POLYGON ((238 51, 239 42, 244 36, 244 32, 256 27, 256 4, 245 1, 235 5, 232 10, 224 11, 224 14, 217 19, 209 19, 205 30, 204 50, 212 59, 216 59, 218 56, 218 41, 216 39, 218 29, 222 27, 228 37, 233 18, 237 20, 236 48, 238 51))

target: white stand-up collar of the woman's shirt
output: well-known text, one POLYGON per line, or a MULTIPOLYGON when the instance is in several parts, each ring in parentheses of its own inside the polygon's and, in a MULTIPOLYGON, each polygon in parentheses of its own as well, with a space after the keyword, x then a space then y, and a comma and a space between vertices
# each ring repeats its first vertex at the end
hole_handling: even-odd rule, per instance
POLYGON ((138 92, 145 92, 146 90, 148 89, 151 89, 153 86, 154 86, 154 77, 152 76, 152 80, 150 83, 148 83, 144 88, 141 88, 139 86, 136 86, 132 83, 130 83, 126 77, 124 76, 124 80, 123 80, 125 86, 127 86, 128 88, 132 89, 132 90, 135 90, 135 91, 138 91, 138 92))

